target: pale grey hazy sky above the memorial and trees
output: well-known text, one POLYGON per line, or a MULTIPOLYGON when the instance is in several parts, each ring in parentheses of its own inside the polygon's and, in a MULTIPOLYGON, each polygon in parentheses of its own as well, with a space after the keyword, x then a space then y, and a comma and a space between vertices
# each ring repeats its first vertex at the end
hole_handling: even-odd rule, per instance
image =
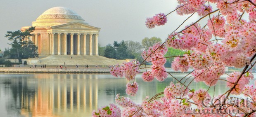
POLYGON ((5 37, 7 31, 32 26, 32 21, 52 7, 72 9, 89 25, 101 28, 101 46, 113 44, 115 40, 141 42, 143 38, 153 36, 165 40, 187 16, 177 16, 174 12, 167 17, 165 26, 153 29, 148 29, 145 21, 160 12, 168 14, 176 6, 176 0, 1 0, 0 49, 10 47, 7 44, 10 41, 5 37))

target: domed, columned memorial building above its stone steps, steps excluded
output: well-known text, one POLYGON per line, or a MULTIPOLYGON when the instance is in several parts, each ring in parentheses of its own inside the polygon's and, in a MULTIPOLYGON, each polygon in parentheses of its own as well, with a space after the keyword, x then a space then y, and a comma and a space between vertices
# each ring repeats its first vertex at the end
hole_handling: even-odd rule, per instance
MULTIPOLYGON (((90 26, 76 12, 66 7, 53 7, 36 21, 31 40, 38 47, 39 56, 45 55, 98 55, 100 28, 90 26)), ((21 28, 21 31, 30 26, 21 28)))

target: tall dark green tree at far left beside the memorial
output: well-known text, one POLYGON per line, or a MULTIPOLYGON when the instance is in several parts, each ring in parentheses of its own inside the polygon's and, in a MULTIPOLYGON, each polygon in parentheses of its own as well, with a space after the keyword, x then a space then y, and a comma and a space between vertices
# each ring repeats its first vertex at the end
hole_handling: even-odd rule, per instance
MULTIPOLYGON (((22 55, 24 53, 27 53, 28 51, 28 47, 31 47, 31 45, 28 45, 30 42, 25 41, 25 37, 31 36, 31 33, 35 30, 35 27, 30 27, 28 29, 26 29, 24 32, 21 32, 20 30, 17 31, 7 31, 7 34, 5 35, 5 37, 8 38, 8 40, 12 41, 9 45, 12 46, 12 48, 9 50, 10 54, 15 54, 15 55, 11 55, 12 57, 18 58, 19 59, 19 63, 21 63, 21 59, 22 59, 22 55), (26 46, 27 45, 27 46, 26 46)), ((32 43, 30 43, 32 44, 32 43)), ((35 55, 31 55, 33 56, 32 58, 38 56, 37 54, 37 47, 34 48, 30 48, 30 49, 35 49, 33 51, 30 51, 31 53, 28 54, 35 54, 35 55)), ((25 54, 27 55, 27 54, 25 54)))

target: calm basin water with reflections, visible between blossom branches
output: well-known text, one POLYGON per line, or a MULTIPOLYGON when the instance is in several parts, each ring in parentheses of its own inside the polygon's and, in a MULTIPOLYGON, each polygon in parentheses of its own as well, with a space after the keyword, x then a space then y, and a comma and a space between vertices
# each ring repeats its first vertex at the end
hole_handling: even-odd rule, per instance
MULTIPOLYGON (((180 80, 186 74, 173 75, 180 80)), ((138 75, 138 93, 128 97, 140 103, 146 96, 162 92, 171 81, 175 80, 168 77, 164 82, 143 82, 138 75)), ((91 117, 92 110, 115 103, 116 94, 127 96, 127 82, 110 74, 0 74, 0 117, 91 117)), ((190 89, 200 88, 208 86, 194 81, 190 84, 190 89)), ((211 87, 209 94, 216 96, 225 89, 226 82, 218 81, 215 92, 211 87)))

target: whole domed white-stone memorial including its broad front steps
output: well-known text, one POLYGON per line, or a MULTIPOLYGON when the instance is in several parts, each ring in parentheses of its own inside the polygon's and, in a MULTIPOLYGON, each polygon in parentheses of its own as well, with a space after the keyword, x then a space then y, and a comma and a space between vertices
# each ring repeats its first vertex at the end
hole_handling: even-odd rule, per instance
MULTIPOLYGON (((38 47, 39 58, 28 58, 28 64, 109 66, 124 62, 98 56, 100 28, 88 25, 69 8, 50 8, 33 21, 32 26, 35 30, 25 40, 31 40, 38 47)), ((24 26, 21 31, 29 27, 24 26)))

